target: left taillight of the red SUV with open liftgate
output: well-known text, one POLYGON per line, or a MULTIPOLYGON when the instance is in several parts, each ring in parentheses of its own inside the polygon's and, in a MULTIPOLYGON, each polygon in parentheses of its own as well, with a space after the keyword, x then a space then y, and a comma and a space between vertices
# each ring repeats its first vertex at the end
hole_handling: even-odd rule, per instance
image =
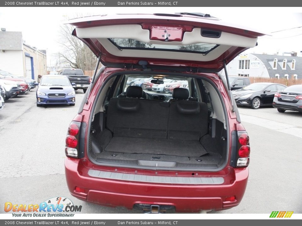
POLYGON ((68 127, 65 139, 65 154, 70 157, 80 158, 80 127, 81 123, 73 121, 68 127))

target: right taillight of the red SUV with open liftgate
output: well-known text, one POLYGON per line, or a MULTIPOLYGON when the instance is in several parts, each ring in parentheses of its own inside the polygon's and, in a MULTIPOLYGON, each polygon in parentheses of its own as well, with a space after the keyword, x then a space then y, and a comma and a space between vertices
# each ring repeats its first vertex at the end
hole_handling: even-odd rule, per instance
POLYGON ((249 165, 249 154, 249 135, 247 132, 233 131, 230 165, 233 167, 247 167, 249 165))

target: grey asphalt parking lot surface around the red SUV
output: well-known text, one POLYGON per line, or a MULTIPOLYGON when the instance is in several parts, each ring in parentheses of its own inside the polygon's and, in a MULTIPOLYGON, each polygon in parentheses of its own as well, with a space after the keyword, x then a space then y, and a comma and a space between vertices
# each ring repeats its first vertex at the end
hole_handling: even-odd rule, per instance
MULTIPOLYGON (((141 213, 69 194, 65 136, 84 93, 76 91, 75 106, 37 107, 35 92, 7 100, 0 111, 0 213, 5 213, 5 202, 40 203, 57 196, 82 205, 81 213, 141 213)), ((251 145, 248 186, 238 207, 212 213, 302 213, 302 113, 279 113, 272 107, 239 107, 239 112, 251 145)))

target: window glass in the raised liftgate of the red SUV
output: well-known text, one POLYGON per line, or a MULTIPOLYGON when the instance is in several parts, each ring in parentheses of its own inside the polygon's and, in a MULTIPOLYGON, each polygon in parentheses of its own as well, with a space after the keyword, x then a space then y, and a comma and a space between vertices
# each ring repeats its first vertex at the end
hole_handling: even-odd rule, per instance
POLYGON ((119 49, 145 49, 145 50, 165 50, 176 52, 195 52, 208 53, 215 49, 218 45, 208 43, 194 43, 190 45, 163 45, 151 44, 134 39, 111 38, 109 39, 119 49))

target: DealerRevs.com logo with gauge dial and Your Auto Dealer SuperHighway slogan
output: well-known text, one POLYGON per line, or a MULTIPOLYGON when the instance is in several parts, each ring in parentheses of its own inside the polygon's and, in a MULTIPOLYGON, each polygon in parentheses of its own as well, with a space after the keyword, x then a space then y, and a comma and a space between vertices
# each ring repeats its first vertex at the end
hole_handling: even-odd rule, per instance
POLYGON ((70 199, 65 197, 50 198, 40 204, 4 204, 4 211, 14 212, 13 217, 73 217, 75 212, 81 210, 82 206, 73 205, 70 199))

